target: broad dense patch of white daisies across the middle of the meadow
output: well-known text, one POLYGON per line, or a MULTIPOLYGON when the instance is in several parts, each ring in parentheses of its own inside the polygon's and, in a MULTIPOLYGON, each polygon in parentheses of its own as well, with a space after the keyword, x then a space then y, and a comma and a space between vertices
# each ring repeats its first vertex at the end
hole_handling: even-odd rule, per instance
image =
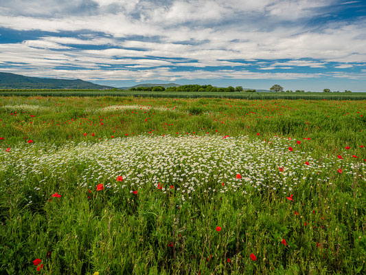
POLYGON ((301 183, 331 184, 333 176, 328 177, 327 171, 339 167, 344 174, 365 181, 363 162, 329 155, 320 162, 311 152, 299 151, 295 142, 279 137, 264 142, 246 136, 140 135, 96 143, 68 142, 60 147, 23 144, 1 153, 0 179, 11 184, 32 177, 41 187, 49 181, 73 179, 82 188, 102 183, 113 192, 161 186, 164 194, 174 186, 182 201, 194 192, 247 194, 253 188, 288 194, 301 183), (288 146, 294 151, 288 151, 288 146), (117 181, 118 176, 124 180, 117 181))

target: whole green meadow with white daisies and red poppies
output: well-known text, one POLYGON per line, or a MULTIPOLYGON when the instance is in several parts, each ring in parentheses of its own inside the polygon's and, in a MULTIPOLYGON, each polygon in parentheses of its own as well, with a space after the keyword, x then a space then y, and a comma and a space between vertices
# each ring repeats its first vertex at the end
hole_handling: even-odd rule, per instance
POLYGON ((357 99, 0 97, 0 273, 365 274, 357 99))

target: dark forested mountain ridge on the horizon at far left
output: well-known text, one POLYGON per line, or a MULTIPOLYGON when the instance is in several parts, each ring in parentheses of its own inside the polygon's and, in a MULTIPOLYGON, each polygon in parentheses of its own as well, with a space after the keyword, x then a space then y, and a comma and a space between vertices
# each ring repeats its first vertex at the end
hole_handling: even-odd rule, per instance
POLYGON ((0 72, 0 89, 113 89, 81 79, 36 78, 0 72))

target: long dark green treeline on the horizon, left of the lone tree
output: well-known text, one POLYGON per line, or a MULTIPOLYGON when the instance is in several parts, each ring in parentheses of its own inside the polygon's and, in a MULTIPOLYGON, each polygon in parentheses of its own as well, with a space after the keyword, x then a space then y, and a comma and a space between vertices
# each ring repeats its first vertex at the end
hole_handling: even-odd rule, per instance
POLYGON ((157 87, 131 87, 128 91, 209 91, 209 92, 234 92, 234 91, 246 91, 246 92, 256 92, 256 90, 244 90, 241 86, 236 88, 229 86, 225 87, 214 87, 212 85, 181 85, 178 87, 168 87, 164 88, 162 86, 157 87))

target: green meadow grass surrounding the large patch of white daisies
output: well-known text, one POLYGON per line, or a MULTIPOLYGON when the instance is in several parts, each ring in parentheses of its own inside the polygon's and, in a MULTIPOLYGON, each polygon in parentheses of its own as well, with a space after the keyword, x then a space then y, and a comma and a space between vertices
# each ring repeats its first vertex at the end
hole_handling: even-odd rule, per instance
MULTIPOLYGON (((238 96, 242 94, 246 93, 238 96)), ((10 166, 0 172, 0 273, 36 274, 32 261, 39 258, 44 265, 39 274, 365 274, 365 170, 337 172, 352 159, 360 163, 366 159, 365 148, 361 148, 366 145, 365 96, 350 101, 342 96, 352 98, 356 93, 340 93, 336 96, 342 100, 333 101, 323 100, 317 93, 301 94, 275 94, 271 100, 266 100, 268 94, 258 100, 153 98, 150 93, 149 97, 0 97, 0 137, 4 138, 0 140, 0 164, 8 147, 10 154, 21 151, 22 146, 33 146, 35 158, 42 155, 41 148, 57 157, 63 142, 70 140, 89 142, 86 146, 92 148, 111 135, 208 132, 220 139, 248 135, 260 142, 274 135, 295 138, 301 141, 304 158, 319 159, 322 166, 319 174, 309 169, 292 176, 299 179, 292 192, 294 201, 286 199, 281 188, 258 191, 248 185, 242 186, 247 194, 197 190, 184 204, 176 189, 164 194, 149 188, 150 178, 141 179, 146 188, 137 195, 127 188, 123 192, 91 188, 88 192, 80 184, 115 181, 80 178, 82 171, 93 173, 95 168, 87 160, 64 163, 55 159, 57 167, 70 167, 62 180, 57 170, 45 169, 38 175, 30 173, 34 164, 30 168, 10 166), (285 100, 286 96, 291 100, 285 100), (296 100, 304 96, 311 100, 296 100), (304 140, 306 137, 311 140, 304 140), (352 148, 346 151, 345 146, 352 148), (339 167, 329 166, 327 159, 336 155, 345 159, 337 159, 339 167), (16 177, 16 169, 24 170, 25 180, 16 177), (62 197, 52 197, 54 192, 62 197), (222 230, 218 232, 216 226, 222 230), (251 260, 252 253, 256 261, 251 260)), ((237 148, 228 150, 235 153, 237 148)), ((264 151, 258 158, 268 153, 264 151)), ((203 162, 209 165, 209 160, 197 159, 198 164, 203 162)), ((174 165, 173 175, 180 169, 174 165)), ((217 169, 216 174, 221 173, 217 169)), ((253 167, 246 170, 251 174, 253 167)), ((195 177, 203 173, 204 169, 195 177)), ((273 167, 271 175, 278 173, 278 167, 273 167)), ((193 181, 192 177, 187 175, 184 183, 193 181)), ((212 179, 205 184, 219 190, 224 181, 227 179, 212 179)), ((270 183, 271 179, 263 181, 270 183)))

